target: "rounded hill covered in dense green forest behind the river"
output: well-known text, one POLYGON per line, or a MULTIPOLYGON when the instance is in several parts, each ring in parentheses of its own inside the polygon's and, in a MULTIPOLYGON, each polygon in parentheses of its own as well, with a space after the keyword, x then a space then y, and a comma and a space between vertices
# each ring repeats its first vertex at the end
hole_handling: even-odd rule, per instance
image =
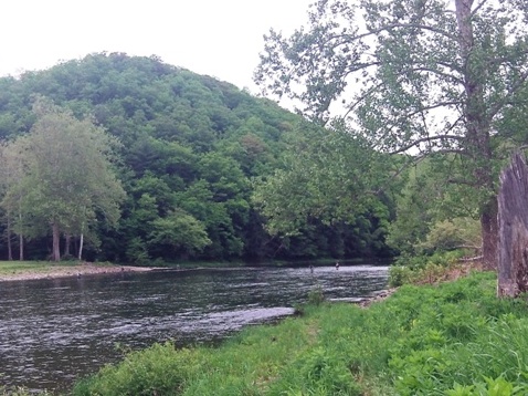
MULTIPOLYGON (((32 106, 41 96, 80 119, 92 117, 120 142, 115 166, 126 191, 122 216, 115 228, 99 221, 85 236, 89 260, 147 263, 389 254, 384 244, 392 216, 389 199, 380 201, 384 210, 363 210, 356 223, 308 218, 295 235, 268 235, 252 204, 254 180, 283 166, 287 142, 304 127, 299 116, 271 101, 156 58, 91 54, 50 70, 0 79, 2 139, 12 142, 32 129, 36 121, 32 106)), ((11 235, 7 221, 2 227, 6 237, 11 235)), ((18 246, 20 238, 11 238, 18 246)), ((78 249, 80 235, 67 240, 78 249)), ((25 242, 27 258, 50 253, 49 237, 25 242)), ((6 239, 0 257, 7 258, 6 239)))

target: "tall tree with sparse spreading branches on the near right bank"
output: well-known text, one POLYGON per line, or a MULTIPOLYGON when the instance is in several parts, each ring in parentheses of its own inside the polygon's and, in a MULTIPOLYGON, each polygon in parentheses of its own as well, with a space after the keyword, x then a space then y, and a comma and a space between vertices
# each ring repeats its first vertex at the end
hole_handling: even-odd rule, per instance
POLYGON ((526 106, 527 21, 526 0, 319 0, 306 29, 265 37, 255 81, 321 124, 338 114, 378 150, 446 154, 457 170, 445 183, 475 202, 494 265, 497 161, 513 138, 505 117, 526 106))

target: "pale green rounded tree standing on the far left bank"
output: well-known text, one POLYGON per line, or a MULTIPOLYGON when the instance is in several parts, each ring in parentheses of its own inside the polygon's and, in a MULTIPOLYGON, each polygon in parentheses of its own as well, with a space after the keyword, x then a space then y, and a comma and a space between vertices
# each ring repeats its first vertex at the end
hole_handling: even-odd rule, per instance
POLYGON ((115 225, 125 192, 112 168, 116 142, 103 128, 43 98, 33 111, 31 133, 17 139, 24 165, 18 186, 27 192, 21 206, 31 219, 31 236, 42 236, 43 225, 51 228, 51 257, 59 261, 61 233, 82 239, 96 221, 115 225))

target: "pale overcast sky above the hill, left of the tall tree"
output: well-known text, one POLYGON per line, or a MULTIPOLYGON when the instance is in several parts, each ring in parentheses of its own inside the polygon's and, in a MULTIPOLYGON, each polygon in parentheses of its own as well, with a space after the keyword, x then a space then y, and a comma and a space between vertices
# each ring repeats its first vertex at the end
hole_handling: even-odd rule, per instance
POLYGON ((253 91, 270 28, 291 33, 313 0, 2 0, 0 75, 92 52, 158 55, 253 91))

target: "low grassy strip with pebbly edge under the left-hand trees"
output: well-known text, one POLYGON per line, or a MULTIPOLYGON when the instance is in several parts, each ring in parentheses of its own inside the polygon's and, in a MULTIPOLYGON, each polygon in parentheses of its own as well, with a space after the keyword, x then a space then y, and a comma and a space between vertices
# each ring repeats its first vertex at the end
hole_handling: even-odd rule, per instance
POLYGON ((88 274, 104 274, 104 273, 118 273, 118 272, 147 272, 147 271, 152 271, 156 269, 157 268, 154 268, 154 267, 96 264, 96 263, 89 263, 89 262, 84 262, 76 265, 71 265, 71 264, 62 265, 61 263, 57 263, 57 264, 45 265, 39 269, 28 268, 28 269, 13 270, 12 273, 0 273, 0 282, 83 277, 88 274))

